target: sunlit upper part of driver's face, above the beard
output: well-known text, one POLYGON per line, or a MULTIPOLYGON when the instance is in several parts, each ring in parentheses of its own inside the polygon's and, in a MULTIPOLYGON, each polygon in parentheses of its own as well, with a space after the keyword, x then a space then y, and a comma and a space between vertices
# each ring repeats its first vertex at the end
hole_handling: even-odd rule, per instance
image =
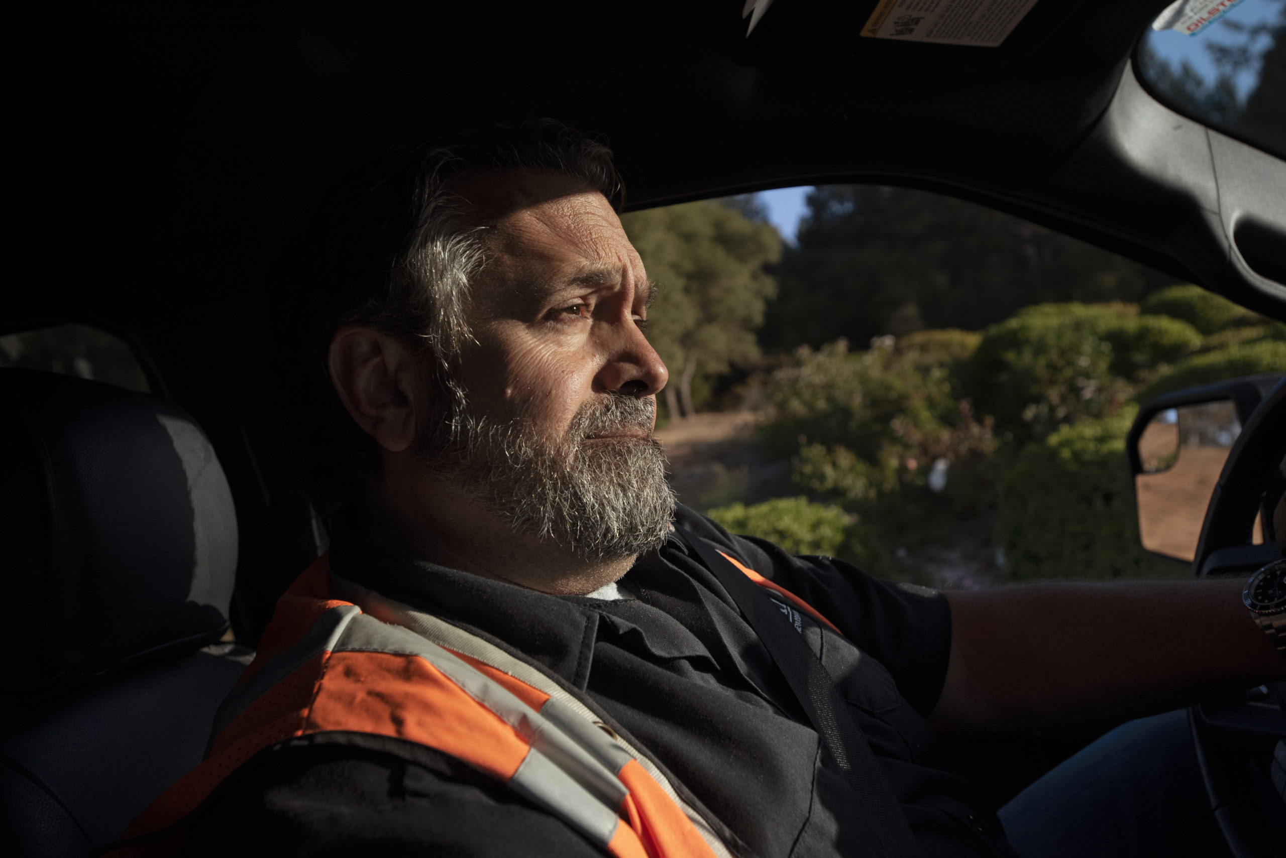
POLYGON ((467 311, 476 342, 460 361, 473 410, 521 415, 553 438, 595 397, 655 399, 667 372, 643 335, 651 286, 603 195, 531 172, 462 194, 487 223, 467 311))

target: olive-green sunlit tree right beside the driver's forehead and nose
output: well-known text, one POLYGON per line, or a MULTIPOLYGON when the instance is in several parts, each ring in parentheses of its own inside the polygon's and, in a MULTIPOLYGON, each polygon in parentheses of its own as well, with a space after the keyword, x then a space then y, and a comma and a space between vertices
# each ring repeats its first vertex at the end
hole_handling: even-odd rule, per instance
POLYGON ((666 387, 671 416, 693 414, 697 371, 725 372, 729 363, 759 356, 755 330, 764 306, 777 294, 766 266, 777 262, 777 230, 747 217, 746 200, 703 200, 633 212, 621 218, 657 298, 648 337, 673 370, 678 390, 666 387))

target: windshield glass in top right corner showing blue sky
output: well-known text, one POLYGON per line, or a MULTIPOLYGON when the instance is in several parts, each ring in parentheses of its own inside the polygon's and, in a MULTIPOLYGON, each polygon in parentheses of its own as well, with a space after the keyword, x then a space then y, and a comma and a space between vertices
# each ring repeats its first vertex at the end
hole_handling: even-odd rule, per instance
POLYGON ((1138 72, 1179 113, 1286 158, 1286 0, 1177 0, 1138 72))

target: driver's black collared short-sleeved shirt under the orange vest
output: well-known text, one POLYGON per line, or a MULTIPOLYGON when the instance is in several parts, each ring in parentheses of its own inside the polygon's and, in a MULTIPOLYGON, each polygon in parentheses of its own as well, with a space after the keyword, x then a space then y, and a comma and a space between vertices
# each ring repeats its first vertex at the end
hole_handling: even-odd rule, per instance
MULTIPOLYGON (((792 557, 696 512, 676 523, 799 595, 822 658, 926 855, 1012 855, 986 801, 934 767, 925 715, 943 687, 950 611, 937 592, 838 560, 792 557)), ((543 665, 657 762, 734 853, 878 855, 844 777, 786 678, 715 577, 671 537, 639 557, 620 599, 549 596, 394 556, 337 529, 332 568, 543 665)), ((598 854, 485 776, 409 742, 319 736, 270 749, 194 814, 194 849, 355 854, 598 854), (229 839, 233 837, 233 839, 229 839), (224 845, 221 845, 224 844, 224 845), (235 844, 235 848, 234 848, 235 844)))

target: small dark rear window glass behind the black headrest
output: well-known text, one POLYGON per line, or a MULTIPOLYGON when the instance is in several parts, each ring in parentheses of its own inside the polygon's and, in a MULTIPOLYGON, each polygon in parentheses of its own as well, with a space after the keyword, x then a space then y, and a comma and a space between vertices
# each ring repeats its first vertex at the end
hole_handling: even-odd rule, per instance
POLYGON ((89 325, 58 325, 0 337, 0 366, 21 366, 149 392, 148 376, 120 337, 89 325))

